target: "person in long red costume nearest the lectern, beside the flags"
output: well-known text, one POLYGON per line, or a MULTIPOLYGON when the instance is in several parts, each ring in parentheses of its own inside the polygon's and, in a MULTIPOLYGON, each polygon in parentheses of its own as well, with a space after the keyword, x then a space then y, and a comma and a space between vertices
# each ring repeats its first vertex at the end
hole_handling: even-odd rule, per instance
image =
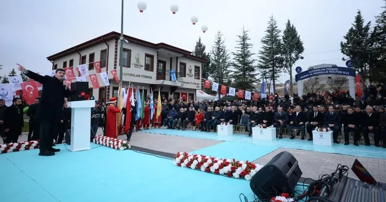
POLYGON ((110 98, 107 102, 107 114, 106 114, 106 136, 110 138, 118 138, 118 126, 117 126, 117 114, 125 112, 126 108, 117 107, 117 98, 110 98))

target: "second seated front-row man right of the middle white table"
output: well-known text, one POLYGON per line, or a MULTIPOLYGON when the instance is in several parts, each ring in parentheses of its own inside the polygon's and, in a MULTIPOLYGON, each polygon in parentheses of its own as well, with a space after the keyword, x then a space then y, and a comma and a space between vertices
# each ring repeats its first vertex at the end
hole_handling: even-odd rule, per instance
MULTIPOLYGON (((305 136, 305 123, 307 122, 307 115, 301 111, 301 107, 296 105, 295 112, 289 118, 290 124, 287 125, 287 130, 290 133, 290 139, 294 139, 292 129, 299 129, 301 132, 301 139, 304 140, 305 136)), ((300 133, 298 131, 298 134, 300 133)))

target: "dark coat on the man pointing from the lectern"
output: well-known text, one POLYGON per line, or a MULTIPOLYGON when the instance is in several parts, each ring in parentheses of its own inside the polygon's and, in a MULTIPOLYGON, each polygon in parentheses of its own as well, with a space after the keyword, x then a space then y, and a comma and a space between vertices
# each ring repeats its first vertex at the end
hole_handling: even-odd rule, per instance
POLYGON ((60 118, 64 98, 71 96, 69 89, 65 89, 63 82, 56 77, 42 76, 28 71, 25 75, 43 84, 40 104, 37 106, 35 118, 37 120, 54 120, 60 118))

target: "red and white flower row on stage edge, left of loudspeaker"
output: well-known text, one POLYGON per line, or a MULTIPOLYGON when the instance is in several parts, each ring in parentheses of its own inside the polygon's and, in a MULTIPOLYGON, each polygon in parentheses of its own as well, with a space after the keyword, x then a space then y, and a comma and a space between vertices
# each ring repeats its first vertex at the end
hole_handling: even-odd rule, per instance
POLYGON ((173 165, 228 177, 245 178, 248 181, 263 167, 248 161, 220 159, 187 152, 177 153, 174 156, 173 165))

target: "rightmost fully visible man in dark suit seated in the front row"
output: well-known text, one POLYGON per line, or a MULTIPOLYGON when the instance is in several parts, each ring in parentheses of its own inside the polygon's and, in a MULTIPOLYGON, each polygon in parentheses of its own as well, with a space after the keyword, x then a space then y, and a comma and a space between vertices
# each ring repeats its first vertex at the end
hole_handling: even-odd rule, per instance
POLYGON ((374 133, 374 145, 379 147, 379 114, 373 112, 372 106, 366 106, 365 110, 361 119, 364 145, 370 146, 369 133, 374 133))

